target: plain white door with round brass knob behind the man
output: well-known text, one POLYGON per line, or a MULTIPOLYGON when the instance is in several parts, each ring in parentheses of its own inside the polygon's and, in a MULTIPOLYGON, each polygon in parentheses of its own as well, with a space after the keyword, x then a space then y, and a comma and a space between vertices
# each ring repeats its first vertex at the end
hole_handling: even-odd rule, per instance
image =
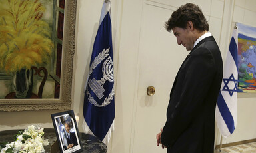
POLYGON ((189 53, 177 45, 164 23, 177 8, 145 1, 139 43, 139 88, 135 114, 133 152, 166 152, 156 146, 156 134, 166 121, 169 93, 183 59, 189 53), (155 94, 147 96, 147 87, 155 94))

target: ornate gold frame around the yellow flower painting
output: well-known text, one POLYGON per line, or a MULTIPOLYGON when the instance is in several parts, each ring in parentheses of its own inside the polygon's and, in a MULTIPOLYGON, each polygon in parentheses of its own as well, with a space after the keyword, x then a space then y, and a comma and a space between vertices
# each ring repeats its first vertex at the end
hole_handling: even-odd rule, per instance
POLYGON ((65 1, 59 98, 0 99, 0 111, 70 110, 77 1, 65 1))

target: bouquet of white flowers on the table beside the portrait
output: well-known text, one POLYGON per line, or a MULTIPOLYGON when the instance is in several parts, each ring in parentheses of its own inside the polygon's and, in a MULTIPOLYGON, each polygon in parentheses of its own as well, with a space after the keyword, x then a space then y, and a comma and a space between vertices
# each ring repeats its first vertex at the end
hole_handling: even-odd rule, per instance
POLYGON ((44 153, 43 146, 49 145, 48 139, 44 140, 43 128, 39 126, 28 126, 24 132, 21 130, 14 142, 6 144, 1 153, 44 153))

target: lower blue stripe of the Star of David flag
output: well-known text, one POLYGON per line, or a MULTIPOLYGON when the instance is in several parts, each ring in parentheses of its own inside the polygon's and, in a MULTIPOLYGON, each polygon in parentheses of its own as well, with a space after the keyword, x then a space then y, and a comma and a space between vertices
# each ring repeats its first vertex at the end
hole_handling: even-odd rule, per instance
POLYGON ((234 119, 231 112, 229 111, 229 108, 227 107, 227 104, 221 92, 219 92, 217 104, 218 104, 219 112, 221 112, 221 116, 225 121, 225 123, 227 124, 227 128, 229 128, 229 132, 232 134, 235 130, 234 119))

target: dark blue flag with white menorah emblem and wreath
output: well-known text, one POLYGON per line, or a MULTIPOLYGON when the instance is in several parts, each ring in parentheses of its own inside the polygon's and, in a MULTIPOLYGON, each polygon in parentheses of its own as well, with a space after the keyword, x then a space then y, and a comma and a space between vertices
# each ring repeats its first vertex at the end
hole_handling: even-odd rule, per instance
POLYGON ((83 106, 83 130, 105 144, 108 144, 114 129, 114 95, 111 3, 105 1, 91 54, 83 106))

